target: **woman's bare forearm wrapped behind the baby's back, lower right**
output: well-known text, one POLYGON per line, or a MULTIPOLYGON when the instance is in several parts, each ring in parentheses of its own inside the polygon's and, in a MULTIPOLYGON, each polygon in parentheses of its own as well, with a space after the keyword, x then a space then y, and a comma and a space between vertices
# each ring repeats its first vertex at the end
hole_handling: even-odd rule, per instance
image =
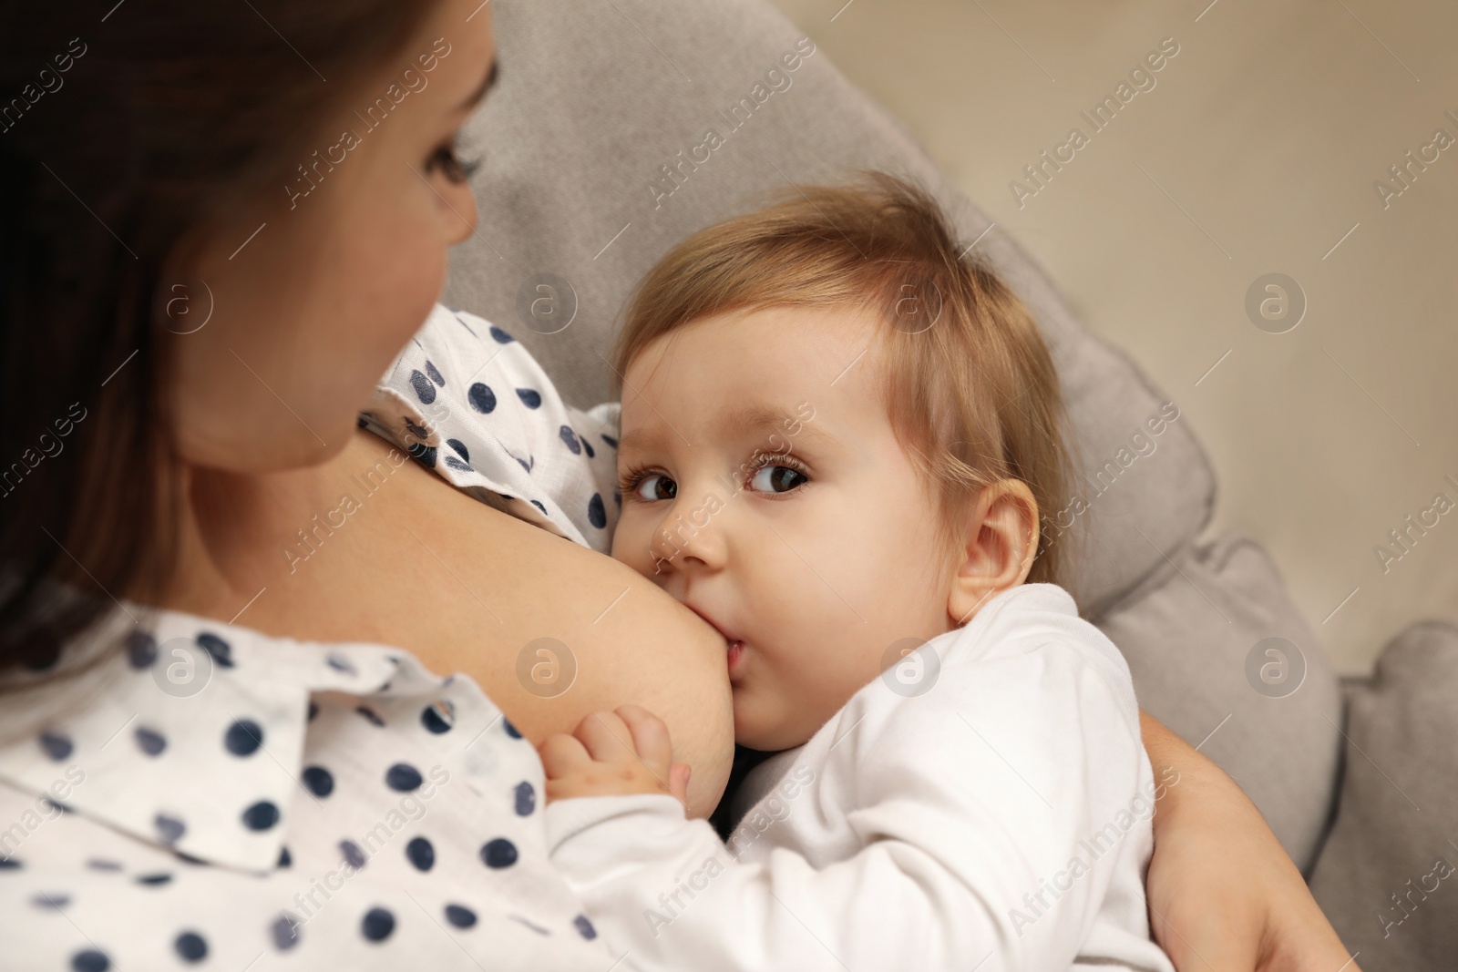
POLYGON ((1149 921, 1180 972, 1356 972, 1255 804, 1210 759, 1140 713, 1163 780, 1149 864, 1149 921))

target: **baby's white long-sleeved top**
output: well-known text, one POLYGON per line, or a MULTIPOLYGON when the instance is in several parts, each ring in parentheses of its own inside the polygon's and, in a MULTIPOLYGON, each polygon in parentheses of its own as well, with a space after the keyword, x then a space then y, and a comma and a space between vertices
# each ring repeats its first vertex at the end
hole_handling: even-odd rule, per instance
POLYGON ((1143 879, 1177 783, 1114 644, 1024 584, 863 686, 728 847, 631 796, 553 803, 548 850, 627 968, 1171 972, 1143 879))

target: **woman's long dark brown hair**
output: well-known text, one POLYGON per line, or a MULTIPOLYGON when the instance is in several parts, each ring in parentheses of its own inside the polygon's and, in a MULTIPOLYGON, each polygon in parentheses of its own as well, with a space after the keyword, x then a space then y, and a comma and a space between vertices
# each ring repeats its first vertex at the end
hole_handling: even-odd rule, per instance
POLYGON ((169 261, 281 187, 433 7, 0 10, 0 682, 172 570, 169 261))

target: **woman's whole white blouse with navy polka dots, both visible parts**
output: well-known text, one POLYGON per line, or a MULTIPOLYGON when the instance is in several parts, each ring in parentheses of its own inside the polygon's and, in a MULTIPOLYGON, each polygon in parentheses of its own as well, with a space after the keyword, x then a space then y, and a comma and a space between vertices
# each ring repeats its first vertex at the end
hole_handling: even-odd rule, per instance
MULTIPOLYGON (((607 549, 614 420, 436 307, 362 424, 607 549)), ((0 968, 614 965, 547 863, 537 752, 469 678, 133 603, 63 657, 89 654, 0 705, 0 968)))

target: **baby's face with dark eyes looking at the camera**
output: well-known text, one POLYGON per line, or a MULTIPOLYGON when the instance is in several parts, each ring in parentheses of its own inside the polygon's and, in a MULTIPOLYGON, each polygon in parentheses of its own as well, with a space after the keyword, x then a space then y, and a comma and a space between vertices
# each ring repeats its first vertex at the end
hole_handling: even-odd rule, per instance
POLYGON ((612 555, 723 634, 735 736, 755 749, 803 743, 908 638, 955 627, 956 552, 885 414, 876 326, 729 312, 624 376, 612 555))

